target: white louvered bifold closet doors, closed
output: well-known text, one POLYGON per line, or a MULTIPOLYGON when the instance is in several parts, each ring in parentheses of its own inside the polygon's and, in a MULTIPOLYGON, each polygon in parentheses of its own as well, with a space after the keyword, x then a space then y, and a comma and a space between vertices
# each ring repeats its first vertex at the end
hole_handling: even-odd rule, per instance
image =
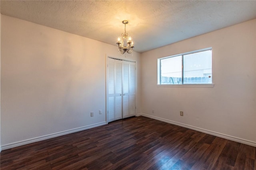
POLYGON ((108 58, 108 122, 136 115, 135 63, 108 58))

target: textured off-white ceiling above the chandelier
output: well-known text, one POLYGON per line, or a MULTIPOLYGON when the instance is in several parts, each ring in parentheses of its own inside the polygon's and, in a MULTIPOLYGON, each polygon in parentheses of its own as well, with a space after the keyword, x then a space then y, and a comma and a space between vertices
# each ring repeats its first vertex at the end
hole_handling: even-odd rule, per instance
MULTIPOLYGON (((116 45, 124 32, 144 52, 256 18, 253 1, 1 0, 1 14, 116 45)), ((116 45, 117 46, 117 45, 116 45)))

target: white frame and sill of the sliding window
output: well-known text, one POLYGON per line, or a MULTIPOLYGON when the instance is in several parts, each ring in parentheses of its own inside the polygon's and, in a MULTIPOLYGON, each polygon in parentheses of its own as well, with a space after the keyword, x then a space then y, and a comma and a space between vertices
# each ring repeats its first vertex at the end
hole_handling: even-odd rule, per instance
POLYGON ((212 47, 199 49, 199 50, 195 50, 195 51, 190 51, 190 52, 186 52, 186 53, 180 53, 180 54, 176 54, 176 55, 171 55, 168 57, 158 58, 157 59, 157 87, 214 87, 213 79, 212 79, 212 83, 207 83, 207 84, 160 84, 160 82, 161 82, 161 59, 182 56, 182 83, 183 83, 184 82, 184 55, 208 51, 208 50, 212 50, 212 47))

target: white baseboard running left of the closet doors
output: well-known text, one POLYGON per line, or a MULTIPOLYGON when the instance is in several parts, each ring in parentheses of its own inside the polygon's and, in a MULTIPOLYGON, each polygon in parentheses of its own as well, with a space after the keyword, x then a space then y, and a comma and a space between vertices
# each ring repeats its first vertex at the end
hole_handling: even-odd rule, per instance
POLYGON ((30 144, 30 143, 34 143, 34 142, 39 142, 39 141, 41 141, 41 140, 46 140, 46 139, 50 139, 50 138, 55 138, 55 137, 62 136, 62 135, 65 135, 65 134, 70 134, 70 133, 74 133, 74 132, 79 132, 79 131, 86 130, 86 129, 89 129, 89 128, 99 127, 99 126, 102 126, 102 125, 106 125, 106 122, 96 123, 96 124, 94 124, 94 125, 89 125, 89 126, 85 126, 85 127, 75 128, 75 129, 66 130, 66 131, 63 131, 63 132, 58 132, 58 133, 54 133, 54 134, 49 134, 49 135, 45 135, 45 136, 40 136, 40 137, 37 137, 37 138, 32 138, 32 139, 28 139, 28 140, 23 140, 23 141, 20 141, 20 142, 14 142, 14 143, 11 143, 11 144, 6 144, 6 145, 3 145, 3 146, 0 146, 0 150, 1 150, 1 147, 2 147, 2 150, 6 150, 6 149, 10 149, 10 148, 15 148, 15 147, 18 147, 18 146, 22 146, 22 145, 25 145, 25 144, 30 144))

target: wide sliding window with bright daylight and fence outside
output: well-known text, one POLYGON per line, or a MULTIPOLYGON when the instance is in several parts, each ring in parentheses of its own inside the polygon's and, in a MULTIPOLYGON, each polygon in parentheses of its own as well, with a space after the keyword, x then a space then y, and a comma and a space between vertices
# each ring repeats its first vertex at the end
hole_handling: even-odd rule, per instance
POLYGON ((212 84, 212 48, 158 59, 158 84, 212 84))

